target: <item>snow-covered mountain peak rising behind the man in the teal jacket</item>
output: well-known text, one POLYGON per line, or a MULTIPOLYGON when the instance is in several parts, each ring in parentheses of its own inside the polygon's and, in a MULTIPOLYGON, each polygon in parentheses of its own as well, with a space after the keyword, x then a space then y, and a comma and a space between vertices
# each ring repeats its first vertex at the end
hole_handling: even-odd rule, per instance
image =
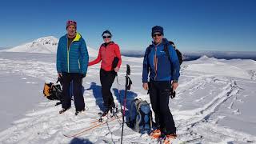
MULTIPOLYGON (((40 54, 56 54, 58 46, 58 38, 54 36, 43 37, 35 39, 33 42, 27 42, 20 46, 3 50, 6 52, 26 52, 26 53, 40 53, 40 54)), ((98 50, 94 50, 87 46, 88 53, 91 57, 98 55, 98 50)))

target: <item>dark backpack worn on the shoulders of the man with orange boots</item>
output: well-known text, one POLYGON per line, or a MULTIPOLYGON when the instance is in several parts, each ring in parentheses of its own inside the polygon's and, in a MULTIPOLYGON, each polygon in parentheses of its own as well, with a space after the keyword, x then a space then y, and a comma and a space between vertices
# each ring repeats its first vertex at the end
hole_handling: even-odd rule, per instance
MULTIPOLYGON (((164 45, 163 51, 166 52, 166 55, 167 55, 167 57, 168 57, 168 59, 169 59, 169 61, 170 61, 170 54, 169 54, 168 46, 169 46, 169 45, 173 46, 173 47, 174 47, 174 50, 176 51, 176 54, 177 54, 177 56, 178 56, 179 65, 181 65, 182 62, 183 62, 183 58, 182 58, 182 53, 181 53, 181 51, 179 51, 178 49, 176 49, 176 46, 174 45, 174 42, 172 42, 172 41, 168 41, 168 42, 169 42, 169 43, 166 43, 166 44, 164 45)), ((146 48, 146 51, 147 51, 146 54, 150 54, 151 46, 152 46, 152 45, 150 45, 150 46, 148 46, 148 47, 146 48)))

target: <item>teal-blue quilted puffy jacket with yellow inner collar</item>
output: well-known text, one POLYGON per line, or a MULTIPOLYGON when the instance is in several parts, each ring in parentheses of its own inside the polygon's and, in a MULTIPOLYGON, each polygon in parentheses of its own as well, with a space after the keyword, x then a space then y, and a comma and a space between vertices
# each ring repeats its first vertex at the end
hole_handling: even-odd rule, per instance
POLYGON ((69 48, 67 45, 66 34, 58 42, 56 62, 58 73, 86 74, 89 57, 85 40, 77 33, 69 48))

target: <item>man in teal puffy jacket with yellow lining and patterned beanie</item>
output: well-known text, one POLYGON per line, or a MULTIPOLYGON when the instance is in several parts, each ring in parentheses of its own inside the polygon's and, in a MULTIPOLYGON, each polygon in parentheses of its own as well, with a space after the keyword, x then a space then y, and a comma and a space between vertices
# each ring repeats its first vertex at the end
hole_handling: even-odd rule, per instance
POLYGON ((77 22, 66 22, 67 34, 58 42, 57 71, 58 77, 62 77, 62 110, 59 114, 70 109, 70 82, 73 81, 75 115, 85 110, 85 102, 82 95, 82 78, 86 77, 88 66, 88 51, 86 42, 77 32, 77 22))

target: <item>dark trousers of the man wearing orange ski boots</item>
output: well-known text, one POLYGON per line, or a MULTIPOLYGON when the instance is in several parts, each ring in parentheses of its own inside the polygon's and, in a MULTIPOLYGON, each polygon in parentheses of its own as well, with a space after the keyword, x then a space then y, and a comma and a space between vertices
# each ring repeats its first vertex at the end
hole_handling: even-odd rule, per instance
POLYGON ((150 81, 150 102, 155 114, 155 121, 166 134, 176 133, 173 115, 169 109, 169 81, 150 81))

